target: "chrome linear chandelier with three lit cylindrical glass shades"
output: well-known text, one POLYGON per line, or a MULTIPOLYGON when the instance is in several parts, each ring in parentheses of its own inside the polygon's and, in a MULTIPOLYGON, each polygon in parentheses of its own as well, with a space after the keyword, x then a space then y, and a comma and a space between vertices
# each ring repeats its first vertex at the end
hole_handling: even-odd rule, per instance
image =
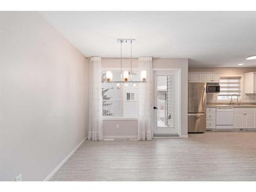
POLYGON ((127 82, 130 82, 130 83, 143 82, 143 83, 145 83, 146 82, 146 71, 141 71, 140 81, 133 81, 133 79, 132 79, 132 72, 133 72, 133 69, 132 69, 132 44, 133 44, 134 41, 135 41, 135 39, 117 39, 117 42, 120 43, 121 79, 120 79, 120 81, 112 81, 113 80, 113 73, 111 71, 106 71, 106 82, 116 82, 116 83, 123 83, 123 82, 125 82, 125 83, 127 83, 127 82), (131 42, 131 71, 130 71, 130 76, 129 76, 129 71, 122 71, 122 44, 123 43, 129 43, 129 42, 131 42))

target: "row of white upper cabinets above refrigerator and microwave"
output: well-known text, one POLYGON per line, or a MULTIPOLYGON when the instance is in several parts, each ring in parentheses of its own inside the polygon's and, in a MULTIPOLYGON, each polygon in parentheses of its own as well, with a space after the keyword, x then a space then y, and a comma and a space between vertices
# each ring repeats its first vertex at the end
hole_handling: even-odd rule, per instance
POLYGON ((220 82, 220 74, 211 72, 190 72, 188 73, 188 82, 220 82))

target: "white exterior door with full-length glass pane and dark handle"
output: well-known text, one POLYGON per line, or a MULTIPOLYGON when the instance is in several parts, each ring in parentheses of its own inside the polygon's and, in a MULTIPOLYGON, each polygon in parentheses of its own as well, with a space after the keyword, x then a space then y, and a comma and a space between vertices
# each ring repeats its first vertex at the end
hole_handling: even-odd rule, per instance
POLYGON ((154 136, 179 134, 179 71, 154 71, 154 136))

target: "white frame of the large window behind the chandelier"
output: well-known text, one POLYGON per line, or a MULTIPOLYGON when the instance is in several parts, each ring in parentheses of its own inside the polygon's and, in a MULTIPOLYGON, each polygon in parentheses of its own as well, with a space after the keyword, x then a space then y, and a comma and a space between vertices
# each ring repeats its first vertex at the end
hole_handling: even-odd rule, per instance
MULTIPOLYGON (((129 71, 130 75, 130 70, 131 68, 122 68, 122 71, 129 71)), ((101 68, 101 73, 105 71, 121 71, 120 68, 101 68)), ((133 68, 133 72, 138 73, 138 68, 133 68)), ((137 74, 138 75, 138 74, 137 74)), ((138 116, 136 117, 123 117, 123 83, 120 83, 120 108, 121 108, 121 116, 103 116, 103 120, 138 120, 138 116)), ((134 93, 134 98, 135 98, 135 93, 134 93)))

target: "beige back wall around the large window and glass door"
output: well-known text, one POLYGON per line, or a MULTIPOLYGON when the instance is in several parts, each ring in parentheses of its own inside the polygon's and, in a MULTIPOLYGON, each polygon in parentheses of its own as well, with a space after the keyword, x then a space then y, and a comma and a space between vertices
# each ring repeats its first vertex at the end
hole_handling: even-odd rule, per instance
MULTIPOLYGON (((132 60, 134 68, 138 66, 138 59, 132 60)), ((123 60, 123 67, 130 67, 130 60, 123 60)), ((102 68, 120 68, 119 59, 102 59, 102 68)), ((188 59, 187 58, 161 58, 153 59, 153 68, 177 68, 181 69, 181 135, 187 135, 187 74, 188 59)), ((103 120, 103 135, 109 136, 137 136, 137 120, 103 120), (116 129, 119 124, 119 129, 116 129)))

